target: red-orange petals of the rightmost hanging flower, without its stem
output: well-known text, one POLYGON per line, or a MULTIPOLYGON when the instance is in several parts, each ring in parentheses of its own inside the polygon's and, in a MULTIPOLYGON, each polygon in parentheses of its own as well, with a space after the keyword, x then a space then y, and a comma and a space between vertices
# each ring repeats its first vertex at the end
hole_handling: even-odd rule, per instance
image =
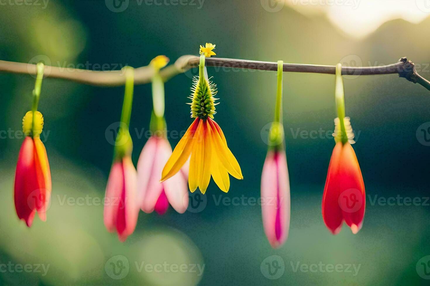
POLYGON ((356 234, 362 227, 365 189, 360 166, 350 143, 338 142, 333 149, 322 196, 322 218, 338 234, 345 220, 356 234))

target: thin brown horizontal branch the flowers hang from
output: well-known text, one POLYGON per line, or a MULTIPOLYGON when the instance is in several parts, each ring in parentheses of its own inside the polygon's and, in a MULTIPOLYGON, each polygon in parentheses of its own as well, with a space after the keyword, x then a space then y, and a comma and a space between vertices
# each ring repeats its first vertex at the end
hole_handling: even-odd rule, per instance
MULTIPOLYGON (((185 55, 179 57, 173 65, 167 66, 160 71, 160 75, 164 81, 186 72, 192 67, 199 64, 199 57, 185 55)), ((206 58, 206 66, 227 67, 238 69, 258 69, 267 71, 276 71, 277 63, 261 62, 256 60, 238 60, 208 57, 206 58)), ((298 63, 284 63, 284 72, 313 72, 335 74, 335 66, 307 65, 298 63)), ((36 65, 30 63, 16 63, 0 60, 0 72, 22 73, 36 75, 36 65)), ((402 57, 399 62, 386 66, 363 66, 363 67, 342 67, 342 75, 387 75, 398 74, 400 77, 406 78, 408 81, 418 83, 430 90, 430 81, 427 81, 415 70, 415 65, 412 61, 402 57)), ((142 66, 135 69, 135 84, 146 84, 151 82, 154 71, 150 66, 142 66)), ((91 84, 97 86, 120 86, 125 83, 125 75, 122 70, 113 71, 93 71, 87 69, 71 69, 59 68, 55 66, 45 66, 45 77, 63 78, 71 81, 76 81, 83 84, 91 84)))

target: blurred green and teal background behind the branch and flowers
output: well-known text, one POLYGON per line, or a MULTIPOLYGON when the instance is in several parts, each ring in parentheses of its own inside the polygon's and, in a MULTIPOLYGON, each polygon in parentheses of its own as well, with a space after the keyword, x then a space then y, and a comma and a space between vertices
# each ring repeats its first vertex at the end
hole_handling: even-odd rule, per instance
MULTIPOLYGON (((110 70, 145 66, 159 54, 173 62, 212 42, 218 57, 291 63, 378 66, 407 56, 430 79, 430 5, 424 0, 116 3, 120 8, 112 0, 0 1, 0 59, 28 63, 42 55, 62 68, 110 70)), ((244 180, 232 179, 227 194, 211 181, 206 196, 192 197, 201 201, 200 207, 185 214, 172 208, 164 216, 141 212, 125 243, 104 228, 99 201, 113 152, 105 131, 119 120, 123 87, 43 81, 39 110, 44 131, 49 131, 42 140, 52 170, 52 204, 46 223, 36 217, 28 229, 16 217, 12 186, 22 143, 15 131, 21 130, 30 108, 34 78, 0 74, 1 285, 428 283, 430 265, 427 272, 421 265, 430 255, 428 90, 397 75, 345 77, 347 116, 358 135, 354 149, 367 205, 357 235, 344 226, 333 236, 322 222, 320 204, 334 146, 331 136, 325 136, 336 117, 334 76, 284 74, 291 227, 286 244, 274 250, 255 200, 267 151, 264 126, 273 117, 276 72, 210 67, 208 72, 221 98, 215 119, 244 180), (323 136, 306 135, 319 130, 323 136), (400 199, 384 203, 393 197, 400 199), (419 203, 410 204, 407 198, 419 198, 419 203), (277 265, 277 272, 266 262, 277 265), (144 268, 163 263, 186 264, 188 271, 144 268), (313 264, 342 265, 342 270, 306 270, 315 270, 313 264), (31 266, 23 271, 15 265, 31 266), (123 268, 114 273, 114 266, 123 268)), ((181 132, 191 123, 185 102, 193 73, 166 82, 170 131, 181 132)), ((151 108, 151 86, 136 86, 130 126, 135 164, 147 141, 139 134, 149 127, 151 108)), ((170 143, 175 146, 178 140, 172 136, 170 143)))

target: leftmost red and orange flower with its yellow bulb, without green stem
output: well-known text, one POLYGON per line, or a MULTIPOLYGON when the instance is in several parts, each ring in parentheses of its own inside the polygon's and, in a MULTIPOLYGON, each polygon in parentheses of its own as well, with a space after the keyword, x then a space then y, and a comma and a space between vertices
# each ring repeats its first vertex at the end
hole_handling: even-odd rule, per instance
POLYGON ((26 137, 18 155, 14 187, 16 214, 28 227, 33 223, 36 211, 40 219, 46 221, 46 208, 51 198, 51 171, 45 146, 40 140, 42 129, 42 114, 28 111, 22 119, 26 137))

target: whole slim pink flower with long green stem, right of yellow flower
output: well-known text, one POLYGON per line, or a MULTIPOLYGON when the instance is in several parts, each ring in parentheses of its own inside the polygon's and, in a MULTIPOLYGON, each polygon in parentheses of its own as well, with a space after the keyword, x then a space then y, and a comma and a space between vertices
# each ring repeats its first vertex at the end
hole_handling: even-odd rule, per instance
POLYGON ((283 61, 278 61, 275 120, 269 130, 269 145, 261 174, 261 214, 264 232, 273 248, 288 237, 290 225, 290 184, 282 125, 283 61))

